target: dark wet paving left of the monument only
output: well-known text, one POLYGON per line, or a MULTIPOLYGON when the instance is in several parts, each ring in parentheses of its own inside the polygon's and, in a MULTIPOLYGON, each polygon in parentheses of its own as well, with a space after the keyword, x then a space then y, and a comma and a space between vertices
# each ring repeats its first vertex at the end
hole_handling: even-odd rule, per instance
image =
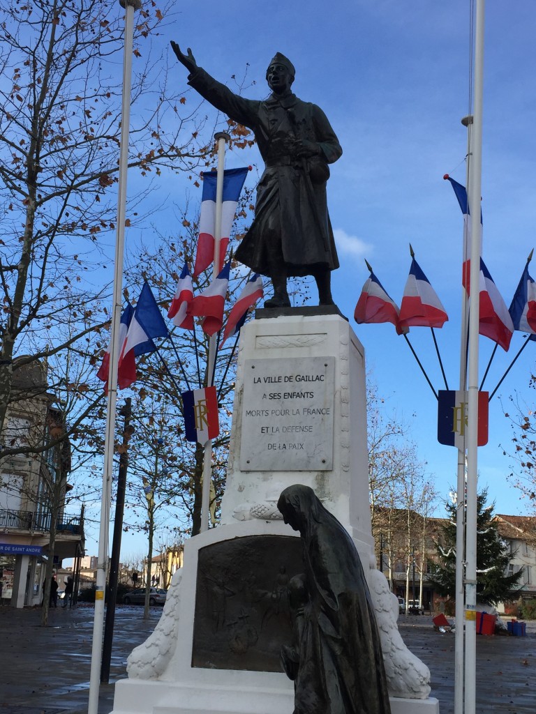
MULTIPOLYGON (((162 607, 116 608, 109 684, 99 691, 99 714, 114 705, 114 683, 126 677, 126 658, 152 633, 162 607)), ((93 605, 52 608, 41 627, 41 608, 0 608, 0 714, 87 712, 93 605)))

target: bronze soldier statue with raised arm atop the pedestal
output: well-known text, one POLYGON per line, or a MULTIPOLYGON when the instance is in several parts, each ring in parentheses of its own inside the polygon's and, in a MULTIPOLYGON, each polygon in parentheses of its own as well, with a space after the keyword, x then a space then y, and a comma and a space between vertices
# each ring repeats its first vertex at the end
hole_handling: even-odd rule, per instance
POLYGON ((188 69, 188 84, 234 121, 252 129, 265 169, 257 186, 255 218, 235 256, 269 276, 274 296, 264 307, 290 306, 287 278, 312 275, 320 305, 332 305, 331 271, 339 267, 327 211, 329 166, 342 149, 318 106, 292 94, 294 66, 279 52, 266 79, 272 94, 264 101, 233 94, 197 66, 192 51, 174 53, 188 69))

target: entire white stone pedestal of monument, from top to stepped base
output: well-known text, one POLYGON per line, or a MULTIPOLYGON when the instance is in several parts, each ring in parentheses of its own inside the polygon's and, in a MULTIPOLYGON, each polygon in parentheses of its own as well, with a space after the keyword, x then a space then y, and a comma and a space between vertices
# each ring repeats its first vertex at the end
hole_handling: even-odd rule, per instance
MULTIPOLYGON (((193 666, 192 657, 199 660, 199 641, 195 654, 193 645, 197 585, 214 593, 223 586, 223 580, 213 586, 199 580, 200 551, 224 542, 232 548, 239 538, 296 537, 276 506, 279 493, 294 483, 313 488, 354 539, 369 580, 389 691, 402 695, 392 697, 392 714, 439 713, 437 700, 427 698, 427 668, 399 636, 398 605, 387 581, 370 569, 364 350, 340 316, 297 315, 242 328, 222 525, 185 544, 184 568, 174 575, 162 618, 130 656, 129 679, 116 684, 114 714, 292 713, 294 691, 286 675, 221 663, 193 666)), ((210 617, 210 606, 207 612, 210 617)))

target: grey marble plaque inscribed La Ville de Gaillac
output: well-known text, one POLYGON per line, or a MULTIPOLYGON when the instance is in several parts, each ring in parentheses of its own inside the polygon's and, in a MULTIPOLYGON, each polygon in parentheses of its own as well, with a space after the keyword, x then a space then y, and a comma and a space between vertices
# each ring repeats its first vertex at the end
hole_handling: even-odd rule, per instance
POLYGON ((242 471, 333 468, 334 357, 245 362, 242 471))

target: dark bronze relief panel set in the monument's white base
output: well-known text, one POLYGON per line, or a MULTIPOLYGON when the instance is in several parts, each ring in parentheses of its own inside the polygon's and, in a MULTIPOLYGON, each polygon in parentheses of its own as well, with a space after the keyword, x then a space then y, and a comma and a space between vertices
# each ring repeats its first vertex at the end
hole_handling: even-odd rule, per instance
POLYGON ((248 535, 199 550, 192 667, 281 672, 292 642, 289 580, 303 570, 302 543, 248 535))

